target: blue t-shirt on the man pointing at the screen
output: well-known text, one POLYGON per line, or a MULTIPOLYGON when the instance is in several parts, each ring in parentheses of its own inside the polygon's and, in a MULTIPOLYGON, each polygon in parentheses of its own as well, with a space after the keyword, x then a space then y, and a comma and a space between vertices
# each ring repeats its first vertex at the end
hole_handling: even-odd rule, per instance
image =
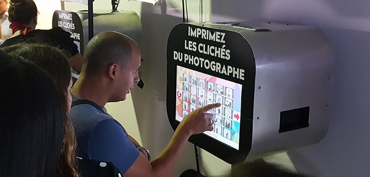
POLYGON ((139 156, 125 129, 107 111, 88 104, 76 105, 71 108, 70 119, 77 138, 78 157, 112 162, 124 174, 139 156))

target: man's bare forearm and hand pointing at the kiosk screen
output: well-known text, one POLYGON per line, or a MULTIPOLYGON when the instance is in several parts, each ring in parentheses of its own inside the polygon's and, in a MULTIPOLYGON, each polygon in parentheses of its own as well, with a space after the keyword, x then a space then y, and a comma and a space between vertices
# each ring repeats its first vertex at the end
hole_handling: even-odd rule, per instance
POLYGON ((187 115, 179 124, 170 142, 162 150, 160 155, 151 163, 139 154, 136 161, 124 173, 125 177, 169 177, 173 172, 180 153, 183 150, 185 143, 191 135, 200 134, 204 131, 212 131, 213 127, 209 126, 209 119, 212 119, 212 114, 206 113, 221 104, 212 104, 194 110, 187 115))

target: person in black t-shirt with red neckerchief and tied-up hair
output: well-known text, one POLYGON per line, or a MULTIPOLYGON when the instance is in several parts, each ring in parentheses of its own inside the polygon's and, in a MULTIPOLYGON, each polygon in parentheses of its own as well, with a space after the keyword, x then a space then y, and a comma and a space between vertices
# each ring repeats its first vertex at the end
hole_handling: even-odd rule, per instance
POLYGON ((47 43, 68 51, 71 56, 68 64, 78 73, 82 67, 82 55, 71 38, 71 34, 61 28, 50 30, 36 30, 37 6, 33 0, 12 0, 8 10, 10 28, 13 35, 5 40, 1 47, 10 46, 16 43, 47 43))

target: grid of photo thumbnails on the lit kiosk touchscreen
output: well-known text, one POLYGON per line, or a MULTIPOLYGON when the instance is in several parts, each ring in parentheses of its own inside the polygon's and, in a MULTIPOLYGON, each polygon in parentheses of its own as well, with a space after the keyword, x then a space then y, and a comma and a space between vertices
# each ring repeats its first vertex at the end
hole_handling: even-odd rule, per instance
POLYGON ((220 107, 210 110, 214 115, 213 131, 231 140, 234 90, 192 75, 183 74, 183 118, 193 110, 213 103, 220 107))

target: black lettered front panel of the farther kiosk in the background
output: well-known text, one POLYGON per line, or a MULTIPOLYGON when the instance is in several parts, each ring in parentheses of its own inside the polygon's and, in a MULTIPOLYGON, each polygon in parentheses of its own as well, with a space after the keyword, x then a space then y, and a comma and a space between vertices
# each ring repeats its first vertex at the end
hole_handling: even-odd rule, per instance
POLYGON ((80 53, 83 53, 84 40, 81 19, 74 12, 55 10, 53 14, 52 27, 60 27, 63 30, 70 32, 71 37, 74 38, 80 53))

